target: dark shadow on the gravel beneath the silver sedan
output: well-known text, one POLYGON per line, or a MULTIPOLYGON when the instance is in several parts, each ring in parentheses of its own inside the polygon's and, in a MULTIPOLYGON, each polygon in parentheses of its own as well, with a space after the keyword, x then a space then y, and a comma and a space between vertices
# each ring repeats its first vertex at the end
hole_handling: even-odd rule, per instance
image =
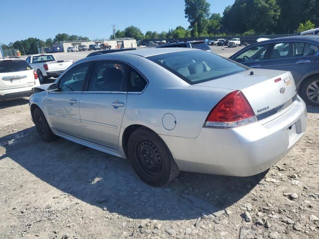
POLYGON ((5 148, 0 160, 9 157, 62 192, 133 219, 188 220, 201 213, 218 216, 266 174, 229 177, 181 172, 168 187, 155 188, 138 178, 128 160, 62 138, 45 143, 35 127, 1 137, 0 146, 5 148))

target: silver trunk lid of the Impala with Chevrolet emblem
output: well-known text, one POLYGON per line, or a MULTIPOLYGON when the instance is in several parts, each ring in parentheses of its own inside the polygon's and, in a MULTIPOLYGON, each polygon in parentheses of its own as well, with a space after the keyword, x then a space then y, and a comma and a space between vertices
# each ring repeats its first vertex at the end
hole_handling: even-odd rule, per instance
POLYGON ((286 109, 297 97, 293 76, 284 71, 254 69, 196 85, 240 90, 257 119, 268 118, 286 109))

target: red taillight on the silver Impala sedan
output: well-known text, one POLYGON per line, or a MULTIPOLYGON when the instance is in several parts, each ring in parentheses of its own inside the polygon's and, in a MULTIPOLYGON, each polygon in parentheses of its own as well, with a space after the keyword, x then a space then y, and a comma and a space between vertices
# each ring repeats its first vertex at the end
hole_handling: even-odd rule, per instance
POLYGON ((209 113, 206 127, 236 127, 256 121, 249 102, 241 91, 225 96, 209 113))

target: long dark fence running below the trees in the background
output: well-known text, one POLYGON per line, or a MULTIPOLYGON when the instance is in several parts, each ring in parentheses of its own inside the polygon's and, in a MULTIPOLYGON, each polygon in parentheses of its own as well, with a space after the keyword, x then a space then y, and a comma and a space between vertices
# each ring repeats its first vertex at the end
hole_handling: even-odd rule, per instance
POLYGON ((153 38, 153 39, 143 39, 143 43, 147 44, 150 41, 194 41, 194 40, 216 40, 216 39, 226 39, 231 40, 232 38, 240 38, 241 42, 247 42, 248 44, 255 43, 258 38, 278 38, 285 36, 292 36, 293 34, 282 34, 282 35, 256 35, 256 36, 241 36, 241 35, 228 35, 228 36, 200 36, 200 37, 181 37, 181 38, 153 38))

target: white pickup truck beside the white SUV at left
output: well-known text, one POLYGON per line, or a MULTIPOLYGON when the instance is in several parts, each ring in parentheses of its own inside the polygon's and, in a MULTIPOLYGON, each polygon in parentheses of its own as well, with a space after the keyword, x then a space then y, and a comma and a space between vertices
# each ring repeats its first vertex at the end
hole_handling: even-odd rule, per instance
POLYGON ((48 77, 58 77, 73 60, 57 61, 52 54, 29 55, 25 61, 36 71, 42 84, 48 77))

